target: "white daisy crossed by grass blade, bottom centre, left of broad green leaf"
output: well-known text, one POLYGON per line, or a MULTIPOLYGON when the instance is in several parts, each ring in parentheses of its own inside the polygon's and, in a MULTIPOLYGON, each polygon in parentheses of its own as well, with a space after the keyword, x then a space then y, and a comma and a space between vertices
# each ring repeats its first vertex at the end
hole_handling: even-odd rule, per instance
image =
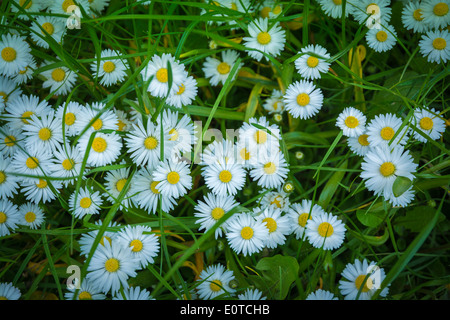
POLYGON ((202 300, 212 300, 218 296, 231 296, 235 290, 230 287, 234 280, 233 271, 226 270, 221 264, 208 266, 199 275, 198 296, 202 300))

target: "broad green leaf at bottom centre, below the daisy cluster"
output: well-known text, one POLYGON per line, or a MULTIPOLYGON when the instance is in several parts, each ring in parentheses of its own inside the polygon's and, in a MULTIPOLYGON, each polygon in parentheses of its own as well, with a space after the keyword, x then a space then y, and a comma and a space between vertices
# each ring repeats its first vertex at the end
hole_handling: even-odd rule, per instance
POLYGON ((272 297, 283 300, 297 278, 299 265, 294 257, 277 254, 273 257, 262 258, 255 268, 261 271, 266 289, 270 291, 272 297))

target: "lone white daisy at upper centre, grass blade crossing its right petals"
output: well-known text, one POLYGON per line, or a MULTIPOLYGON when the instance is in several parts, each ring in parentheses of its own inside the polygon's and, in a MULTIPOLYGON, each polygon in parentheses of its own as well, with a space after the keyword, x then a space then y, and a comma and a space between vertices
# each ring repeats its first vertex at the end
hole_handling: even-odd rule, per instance
MULTIPOLYGON (((213 86, 217 86, 219 83, 225 84, 227 81, 230 71, 239 58, 239 53, 235 50, 225 50, 222 51, 222 59, 216 59, 211 57, 206 57, 203 63, 203 72, 205 73, 205 78, 209 79, 209 82, 213 86)), ((239 69, 244 64, 239 63, 233 78, 230 81, 234 81, 239 72, 239 69)))

